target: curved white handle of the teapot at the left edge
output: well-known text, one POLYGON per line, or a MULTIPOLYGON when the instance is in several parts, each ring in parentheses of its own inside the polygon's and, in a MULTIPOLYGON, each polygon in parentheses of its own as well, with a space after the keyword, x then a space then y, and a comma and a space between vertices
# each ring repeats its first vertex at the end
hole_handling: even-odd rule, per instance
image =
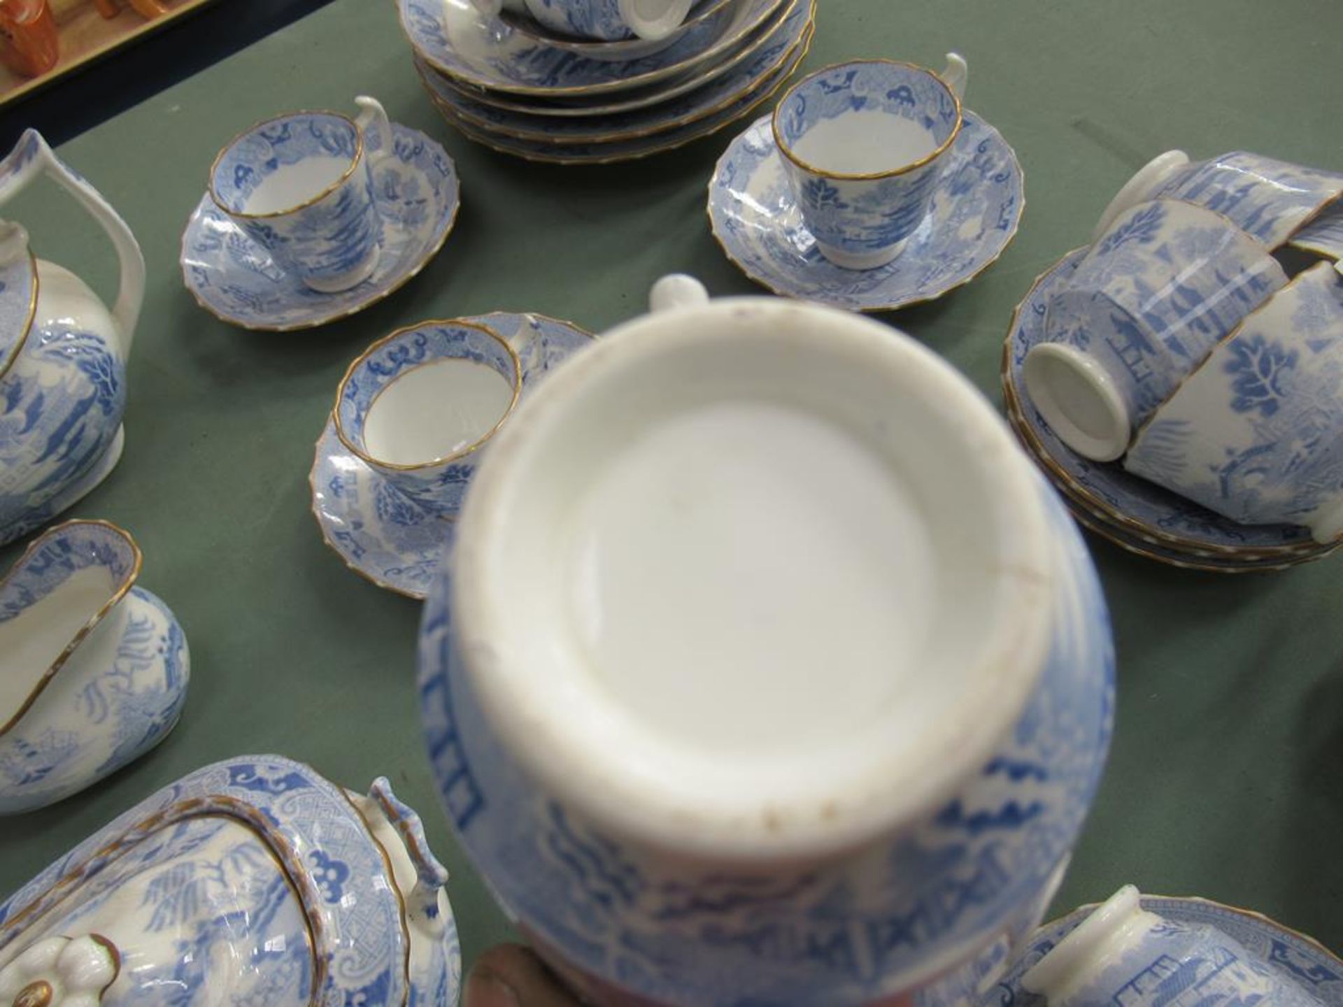
POLYGON ((140 251, 140 243, 102 193, 56 157, 35 129, 24 130, 17 146, 0 161, 0 205, 28 188, 28 184, 42 173, 48 175, 89 211, 117 250, 117 258, 121 260, 121 287, 117 291, 117 303, 111 309, 111 318, 117 325, 121 352, 129 356, 140 307, 145 301, 145 256, 140 251))

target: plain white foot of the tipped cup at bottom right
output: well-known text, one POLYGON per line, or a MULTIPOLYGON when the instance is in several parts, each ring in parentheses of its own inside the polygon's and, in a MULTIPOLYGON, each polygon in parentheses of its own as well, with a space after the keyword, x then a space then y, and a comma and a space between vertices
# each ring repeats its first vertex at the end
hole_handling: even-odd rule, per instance
POLYGON ((1076 930, 1027 971, 1021 986, 1050 1004, 1065 1004, 1091 979, 1142 941, 1162 917, 1142 908, 1138 889, 1125 885, 1076 930))

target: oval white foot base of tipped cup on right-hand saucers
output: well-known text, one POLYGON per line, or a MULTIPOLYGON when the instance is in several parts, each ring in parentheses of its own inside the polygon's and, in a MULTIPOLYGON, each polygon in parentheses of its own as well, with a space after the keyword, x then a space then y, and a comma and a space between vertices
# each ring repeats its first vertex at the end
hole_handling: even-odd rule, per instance
POLYGON ((1091 356, 1068 344, 1041 342, 1027 350, 1022 379, 1031 405, 1077 454, 1112 462, 1128 450, 1128 405, 1091 356))

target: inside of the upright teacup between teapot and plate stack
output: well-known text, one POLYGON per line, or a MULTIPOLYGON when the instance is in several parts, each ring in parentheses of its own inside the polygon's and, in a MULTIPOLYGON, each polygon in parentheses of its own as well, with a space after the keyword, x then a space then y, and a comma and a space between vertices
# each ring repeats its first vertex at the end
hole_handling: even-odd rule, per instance
POLYGON ((235 216, 299 209, 355 171, 361 144, 359 126, 337 113, 297 113, 262 122, 215 160, 210 195, 235 216))

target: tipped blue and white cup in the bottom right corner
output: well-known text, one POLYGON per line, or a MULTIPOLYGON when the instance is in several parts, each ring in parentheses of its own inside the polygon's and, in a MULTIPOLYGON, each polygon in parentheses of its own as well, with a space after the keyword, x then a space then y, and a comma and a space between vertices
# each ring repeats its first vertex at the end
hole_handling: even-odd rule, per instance
POLYGON ((1132 885, 1116 892, 1022 976, 1022 988, 1049 1007, 1319 1007, 1240 941, 1158 916, 1140 898, 1132 885))

